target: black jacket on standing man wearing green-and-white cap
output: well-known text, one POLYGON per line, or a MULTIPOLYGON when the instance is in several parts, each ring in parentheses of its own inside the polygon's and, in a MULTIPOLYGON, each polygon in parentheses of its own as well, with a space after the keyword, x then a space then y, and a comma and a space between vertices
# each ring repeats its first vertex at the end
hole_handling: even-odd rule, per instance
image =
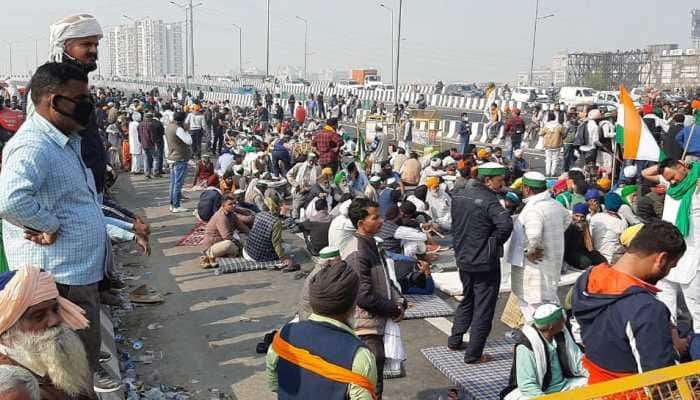
POLYGON ((467 272, 497 270, 513 220, 496 193, 480 182, 452 196, 452 229, 457 266, 467 272))

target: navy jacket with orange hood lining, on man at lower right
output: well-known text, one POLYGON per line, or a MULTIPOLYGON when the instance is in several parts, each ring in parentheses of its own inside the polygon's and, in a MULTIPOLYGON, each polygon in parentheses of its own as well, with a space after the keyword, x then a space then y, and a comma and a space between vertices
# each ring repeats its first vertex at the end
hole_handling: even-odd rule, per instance
MULTIPOLYGON (((606 264, 578 278, 573 313, 581 325, 586 358, 591 363, 616 374, 675 364, 670 313, 656 298, 656 291, 654 286, 606 264)), ((591 374, 593 378, 594 372, 591 374)))

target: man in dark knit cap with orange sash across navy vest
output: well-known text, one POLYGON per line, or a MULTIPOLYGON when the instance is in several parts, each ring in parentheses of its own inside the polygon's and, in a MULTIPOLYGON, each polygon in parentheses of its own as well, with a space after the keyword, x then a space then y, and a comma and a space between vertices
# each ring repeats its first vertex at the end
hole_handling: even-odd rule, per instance
POLYGON ((335 260, 308 279, 313 314, 282 327, 267 352, 269 387, 279 398, 377 398, 375 358, 350 322, 360 279, 335 260))

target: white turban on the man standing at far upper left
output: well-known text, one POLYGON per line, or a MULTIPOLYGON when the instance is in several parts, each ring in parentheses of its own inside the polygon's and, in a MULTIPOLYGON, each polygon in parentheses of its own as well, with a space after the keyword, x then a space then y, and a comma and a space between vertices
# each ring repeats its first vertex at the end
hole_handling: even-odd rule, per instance
POLYGON ((102 27, 92 15, 79 14, 56 21, 49 28, 49 61, 63 61, 66 40, 90 36, 102 39, 102 27))

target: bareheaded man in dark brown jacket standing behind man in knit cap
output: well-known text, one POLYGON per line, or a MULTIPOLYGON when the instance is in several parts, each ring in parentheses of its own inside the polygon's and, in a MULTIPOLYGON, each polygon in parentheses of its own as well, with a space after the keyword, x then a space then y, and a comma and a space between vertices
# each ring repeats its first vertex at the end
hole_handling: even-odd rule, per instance
POLYGON ((374 235, 382 228, 379 205, 367 199, 354 199, 348 216, 357 229, 343 248, 341 258, 360 277, 355 307, 355 334, 374 354, 377 362, 377 398, 384 386, 384 327, 387 320, 403 318, 406 301, 389 279, 386 261, 379 252, 374 235))

